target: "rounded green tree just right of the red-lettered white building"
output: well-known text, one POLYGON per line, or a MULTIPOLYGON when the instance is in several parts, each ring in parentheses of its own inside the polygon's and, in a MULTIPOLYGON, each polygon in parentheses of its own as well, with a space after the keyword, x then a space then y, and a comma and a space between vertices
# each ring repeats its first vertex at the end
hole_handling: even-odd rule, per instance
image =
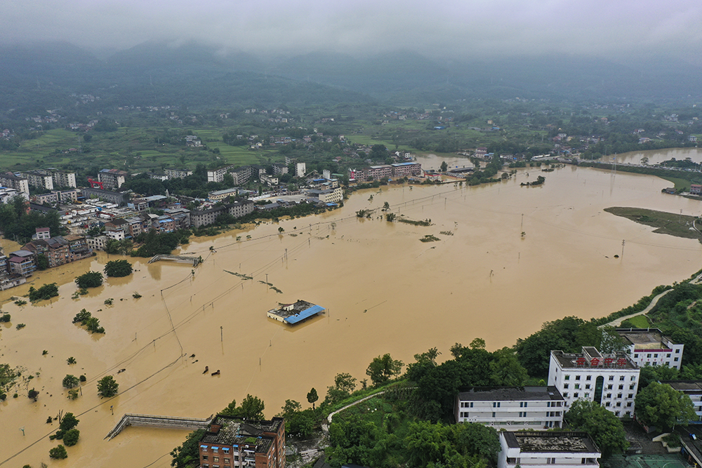
POLYGON ((637 420, 656 426, 661 432, 670 432, 675 424, 686 426, 697 419, 690 397, 668 384, 651 382, 637 394, 635 406, 637 420))

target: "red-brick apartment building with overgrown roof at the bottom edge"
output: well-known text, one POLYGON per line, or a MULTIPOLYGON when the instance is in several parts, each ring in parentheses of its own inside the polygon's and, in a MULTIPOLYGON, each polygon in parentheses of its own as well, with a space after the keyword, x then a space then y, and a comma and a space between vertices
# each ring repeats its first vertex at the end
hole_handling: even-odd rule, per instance
POLYGON ((285 468, 285 421, 217 415, 198 450, 201 468, 285 468))

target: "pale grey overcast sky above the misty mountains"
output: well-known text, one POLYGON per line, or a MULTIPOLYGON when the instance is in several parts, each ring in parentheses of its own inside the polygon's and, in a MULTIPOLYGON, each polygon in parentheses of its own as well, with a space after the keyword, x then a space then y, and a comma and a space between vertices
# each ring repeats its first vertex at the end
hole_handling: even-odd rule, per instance
MULTIPOLYGON (((701 0, 2 0, 0 41, 128 48, 196 39, 251 53, 398 48, 456 58, 702 54, 701 0)), ((1 59, 0 59, 1 60, 1 59)))

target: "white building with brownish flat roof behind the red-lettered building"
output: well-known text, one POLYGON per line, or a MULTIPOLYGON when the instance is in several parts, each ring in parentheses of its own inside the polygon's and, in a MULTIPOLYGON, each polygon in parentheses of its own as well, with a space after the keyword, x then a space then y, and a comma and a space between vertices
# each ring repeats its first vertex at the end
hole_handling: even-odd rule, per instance
POLYGON ((639 367, 668 366, 680 370, 685 345, 676 345, 658 328, 617 328, 616 333, 623 338, 629 356, 639 367))

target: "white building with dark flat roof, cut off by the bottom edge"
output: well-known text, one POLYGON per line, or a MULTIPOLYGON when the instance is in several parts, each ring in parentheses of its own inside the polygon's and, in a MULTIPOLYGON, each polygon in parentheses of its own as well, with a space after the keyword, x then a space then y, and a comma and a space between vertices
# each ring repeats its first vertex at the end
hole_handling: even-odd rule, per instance
POLYGON ((587 432, 500 432, 498 468, 599 467, 600 448, 587 432))

